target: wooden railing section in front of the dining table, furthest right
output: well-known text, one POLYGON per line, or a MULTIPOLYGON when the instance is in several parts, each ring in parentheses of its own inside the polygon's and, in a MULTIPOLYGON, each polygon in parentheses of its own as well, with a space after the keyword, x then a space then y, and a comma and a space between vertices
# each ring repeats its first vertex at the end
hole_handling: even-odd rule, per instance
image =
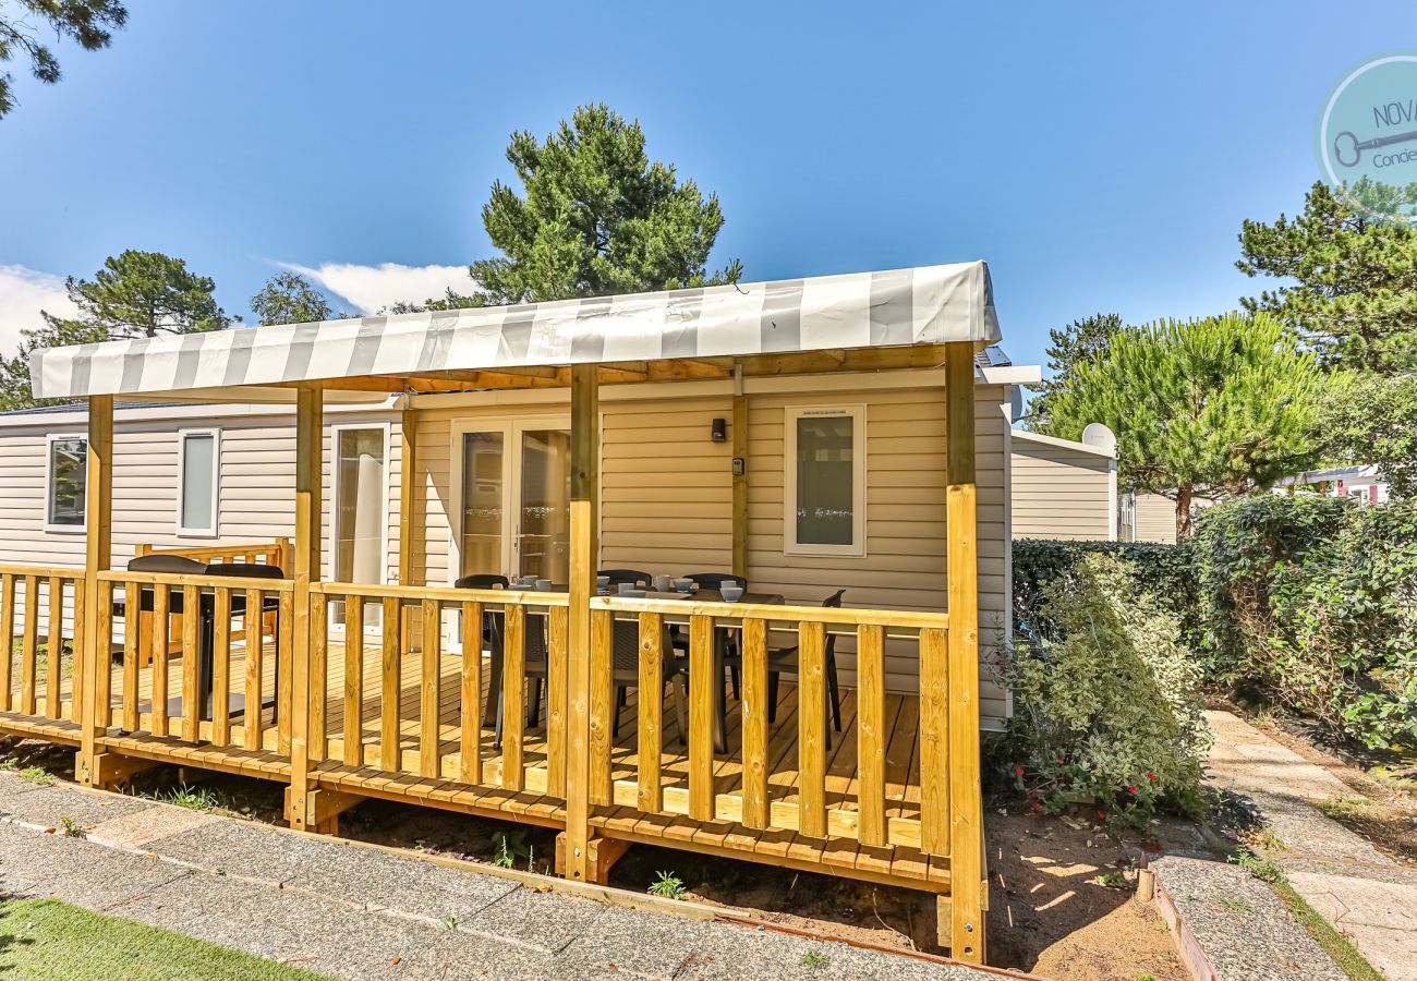
MULTIPOLYGON (((938 784, 921 774, 920 817, 887 814, 886 749, 893 719, 886 716, 886 639, 917 645, 922 665, 920 743, 907 771, 921 773, 920 754, 948 741, 947 702, 942 685, 930 690, 927 665, 942 665, 948 618, 942 614, 823 607, 684 602, 679 600, 626 600, 599 597, 591 601, 591 800, 599 805, 633 807, 646 812, 683 814, 696 821, 728 821, 748 828, 796 831, 812 838, 854 838, 862 845, 908 845, 948 855, 948 794, 931 792, 938 784), (616 710, 611 682, 615 624, 632 622, 639 635, 639 685, 636 778, 612 780, 611 730, 616 710), (689 785, 666 787, 663 758, 663 702, 645 697, 660 688, 665 627, 689 637, 689 785), (741 766, 723 766, 714 749, 714 697, 724 679, 716 676, 716 634, 728 634, 743 658, 741 733, 738 753, 726 756, 741 766), (854 645, 856 744, 854 801, 828 804, 828 730, 832 724, 826 688, 826 641, 854 645), (796 731, 769 731, 768 641, 774 648, 798 651, 796 731), (795 739, 794 739, 795 736, 795 739), (795 767, 791 757, 795 743, 795 767), (782 761, 769 787, 774 764, 782 761), (734 771, 737 770, 737 774, 734 771), (784 787, 782 774, 789 775, 784 787), (796 800, 782 800, 795 797, 796 800), (924 829, 924 832, 922 832, 924 829)), ((941 679, 942 680, 942 679, 941 679)), ((837 739, 846 739, 842 733, 837 739)), ((724 754, 720 754, 724 756, 724 754)), ((850 764, 842 760, 839 767, 850 764)), ((897 761, 901 764, 903 761, 897 761)), ((941 774, 942 775, 942 774, 941 774)), ((837 797, 840 797, 837 794, 837 797)))

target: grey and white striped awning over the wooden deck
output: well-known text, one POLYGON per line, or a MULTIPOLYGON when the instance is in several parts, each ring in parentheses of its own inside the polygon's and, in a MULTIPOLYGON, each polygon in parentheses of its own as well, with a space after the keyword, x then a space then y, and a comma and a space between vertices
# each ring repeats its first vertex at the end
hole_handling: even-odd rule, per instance
POLYGON ((37 398, 156 396, 370 376, 993 343, 983 262, 597 296, 34 352, 37 398))

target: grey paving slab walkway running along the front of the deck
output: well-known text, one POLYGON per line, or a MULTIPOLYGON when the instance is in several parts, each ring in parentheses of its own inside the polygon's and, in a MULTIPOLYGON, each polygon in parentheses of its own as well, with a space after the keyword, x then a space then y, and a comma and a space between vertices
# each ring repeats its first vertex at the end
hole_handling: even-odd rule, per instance
POLYGON ((0 895, 54 896, 341 978, 998 977, 4 773, 0 895), (61 834, 64 818, 84 835, 61 834), (826 965, 803 964, 812 951, 826 965))

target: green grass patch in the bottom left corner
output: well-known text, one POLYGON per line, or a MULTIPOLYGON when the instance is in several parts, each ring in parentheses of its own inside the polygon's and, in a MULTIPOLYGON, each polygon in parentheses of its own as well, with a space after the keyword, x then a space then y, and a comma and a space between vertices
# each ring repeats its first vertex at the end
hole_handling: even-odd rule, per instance
POLYGON ((60 981, 317 981, 323 977, 54 899, 0 902, 0 975, 60 981))

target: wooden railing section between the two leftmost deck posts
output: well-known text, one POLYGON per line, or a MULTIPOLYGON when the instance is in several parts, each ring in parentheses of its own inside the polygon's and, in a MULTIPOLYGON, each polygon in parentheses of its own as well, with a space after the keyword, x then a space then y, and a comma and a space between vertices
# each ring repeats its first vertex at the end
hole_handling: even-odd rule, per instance
POLYGON ((116 649, 115 622, 125 625, 118 680, 112 662, 94 672, 99 729, 289 753, 286 679, 295 617, 288 580, 135 571, 99 573, 98 578, 99 649, 116 649), (150 615, 153 624, 166 625, 176 611, 183 615, 179 658, 163 656, 170 651, 167 629, 145 634, 135 624, 150 615), (268 614, 279 622, 271 645, 264 631, 248 627, 252 617, 268 614), (238 637, 244 642, 234 644, 238 637), (152 644, 152 656, 143 656, 145 642, 152 644), (275 709, 272 731, 266 731, 268 709, 275 709))

